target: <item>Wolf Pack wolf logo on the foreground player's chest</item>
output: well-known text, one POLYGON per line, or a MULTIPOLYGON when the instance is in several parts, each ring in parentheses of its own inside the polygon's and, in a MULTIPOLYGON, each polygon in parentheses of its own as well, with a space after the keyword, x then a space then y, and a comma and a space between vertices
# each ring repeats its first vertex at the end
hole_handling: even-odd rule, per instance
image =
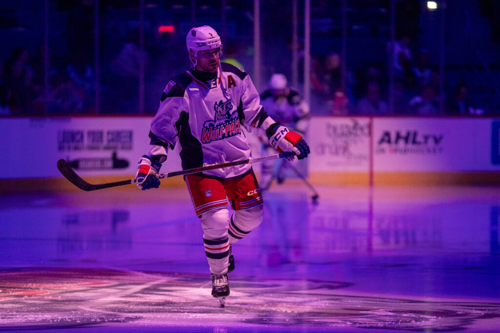
POLYGON ((226 139, 240 133, 238 113, 235 111, 231 113, 232 108, 230 99, 225 102, 222 100, 215 102, 213 120, 205 121, 201 129, 202 143, 226 139))

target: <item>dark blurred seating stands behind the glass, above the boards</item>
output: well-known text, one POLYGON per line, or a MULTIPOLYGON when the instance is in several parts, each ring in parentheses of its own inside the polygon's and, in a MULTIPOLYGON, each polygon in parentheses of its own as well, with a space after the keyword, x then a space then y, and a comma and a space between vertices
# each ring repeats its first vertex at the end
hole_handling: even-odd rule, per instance
MULTIPOLYGON (((297 2, 303 90, 304 2, 297 2)), ((497 1, 447 1, 444 48, 442 16, 426 2, 311 0, 311 113, 498 115, 497 1)), ((193 22, 214 27, 225 57, 253 77, 253 10, 242 0, 2 1, 0 115, 154 114, 169 77, 189 66, 193 22)), ((273 73, 293 76, 291 16, 286 1, 260 1, 259 90, 273 73)))

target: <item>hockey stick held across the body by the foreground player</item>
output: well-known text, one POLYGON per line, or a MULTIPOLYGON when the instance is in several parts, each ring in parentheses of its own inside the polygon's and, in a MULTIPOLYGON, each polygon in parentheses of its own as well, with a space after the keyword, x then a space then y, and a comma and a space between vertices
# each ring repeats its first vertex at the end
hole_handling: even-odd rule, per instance
MULTIPOLYGON (((234 162, 211 164, 211 165, 206 165, 206 166, 202 166, 199 168, 192 168, 192 169, 187 169, 187 170, 161 173, 161 174, 158 174, 157 177, 158 177, 158 179, 161 179, 161 178, 169 178, 169 177, 173 177, 173 176, 188 175, 191 173, 197 173, 197 172, 213 170, 213 169, 220 169, 220 168, 227 168, 227 167, 239 165, 239 164, 248 164, 248 163, 256 163, 256 162, 274 160, 277 158, 289 157, 289 156, 294 156, 294 155, 295 155, 294 153, 285 152, 285 153, 281 153, 281 154, 274 154, 274 155, 268 155, 268 156, 262 156, 262 157, 256 157, 256 158, 249 158, 246 160, 240 160, 240 161, 234 161, 234 162)), ((116 186, 122 186, 122 185, 136 183, 135 178, 134 178, 134 179, 121 180, 121 181, 112 182, 112 183, 89 184, 86 181, 84 181, 83 179, 81 179, 81 177, 78 176, 76 174, 76 172, 74 172, 73 169, 71 169, 71 166, 69 165, 69 163, 67 163, 66 160, 64 160, 63 158, 61 158, 60 160, 57 161, 57 169, 59 169, 60 173, 64 176, 64 178, 69 180, 74 186, 76 186, 77 188, 79 188, 83 191, 95 191, 95 190, 105 189, 105 188, 109 188, 109 187, 116 187, 116 186)))

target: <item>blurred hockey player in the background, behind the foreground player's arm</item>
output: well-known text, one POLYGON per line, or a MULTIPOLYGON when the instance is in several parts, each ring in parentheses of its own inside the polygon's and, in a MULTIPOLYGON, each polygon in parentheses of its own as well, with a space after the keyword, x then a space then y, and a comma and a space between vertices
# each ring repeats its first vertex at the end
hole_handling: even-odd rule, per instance
MULTIPOLYGON (((302 96, 293 88, 287 85, 286 77, 283 74, 272 74, 269 80, 268 89, 260 95, 260 102, 266 113, 281 125, 293 130, 300 135, 304 135, 309 124, 309 106, 302 99, 302 96)), ((262 155, 267 155, 273 151, 267 140, 262 142, 262 155)), ((278 161, 277 181, 284 181, 284 173, 287 167, 294 167, 295 161, 278 161)), ((260 190, 269 188, 273 179, 274 161, 264 161, 261 164, 260 190)))

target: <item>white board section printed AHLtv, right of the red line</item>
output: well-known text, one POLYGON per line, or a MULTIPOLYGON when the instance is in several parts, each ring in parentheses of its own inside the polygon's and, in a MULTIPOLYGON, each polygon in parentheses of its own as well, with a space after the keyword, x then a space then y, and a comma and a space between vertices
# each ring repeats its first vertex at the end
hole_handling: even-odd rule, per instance
POLYGON ((491 162, 491 119, 374 118, 374 171, 500 170, 491 162))

